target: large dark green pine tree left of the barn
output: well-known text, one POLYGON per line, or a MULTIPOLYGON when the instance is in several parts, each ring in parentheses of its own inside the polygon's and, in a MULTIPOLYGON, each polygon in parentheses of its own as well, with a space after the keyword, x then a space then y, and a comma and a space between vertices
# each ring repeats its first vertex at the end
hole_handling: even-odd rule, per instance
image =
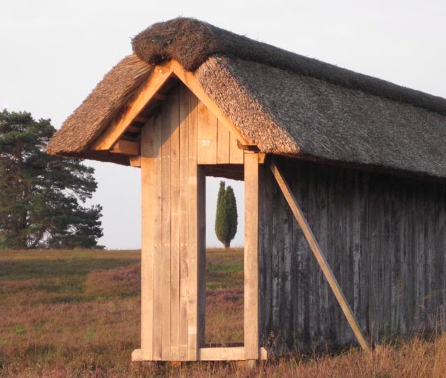
POLYGON ((0 248, 93 248, 101 206, 79 204, 96 190, 94 169, 44 152, 56 130, 26 112, 0 112, 0 248))

